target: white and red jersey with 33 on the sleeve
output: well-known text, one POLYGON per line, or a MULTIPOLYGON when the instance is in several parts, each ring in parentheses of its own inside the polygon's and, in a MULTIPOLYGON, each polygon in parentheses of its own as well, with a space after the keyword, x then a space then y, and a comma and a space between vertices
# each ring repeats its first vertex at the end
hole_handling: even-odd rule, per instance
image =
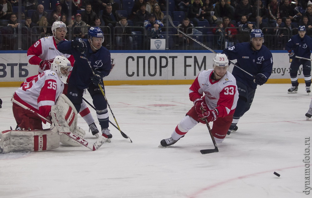
POLYGON ((220 80, 212 80, 213 69, 204 70, 198 74, 189 89, 191 101, 201 98, 204 94, 209 109, 217 109, 217 117, 225 117, 234 113, 238 91, 234 76, 227 72, 220 80))

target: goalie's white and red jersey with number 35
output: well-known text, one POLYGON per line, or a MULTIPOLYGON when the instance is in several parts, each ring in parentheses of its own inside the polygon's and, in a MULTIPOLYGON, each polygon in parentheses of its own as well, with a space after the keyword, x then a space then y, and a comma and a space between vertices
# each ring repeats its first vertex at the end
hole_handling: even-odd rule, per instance
POLYGON ((28 79, 32 80, 25 81, 15 91, 13 98, 46 118, 51 106, 56 104, 57 98, 62 94, 64 83, 52 70, 46 70, 37 77, 28 79))

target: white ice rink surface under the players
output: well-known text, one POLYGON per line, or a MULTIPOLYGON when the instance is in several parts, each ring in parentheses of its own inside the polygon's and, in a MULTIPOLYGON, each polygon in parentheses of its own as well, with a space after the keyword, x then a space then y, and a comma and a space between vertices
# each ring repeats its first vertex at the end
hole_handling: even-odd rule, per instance
MULTIPOLYGON (((312 134, 312 120, 305 118, 311 95, 303 84, 297 94, 287 94, 290 84, 258 86, 238 131, 218 144, 217 153, 199 152, 214 148, 201 123, 173 146, 158 148, 193 105, 189 86, 105 86, 117 122, 133 143, 110 126, 112 141, 97 151, 60 145, 43 152, 0 154, 0 197, 312 196, 311 190, 309 195, 303 193, 305 137, 312 134)), ((16 126, 10 102, 16 89, 0 88, 1 131, 16 126)), ((89 93, 84 97, 91 102, 89 93)), ((95 111, 90 111, 100 127, 95 111)), ((115 123, 111 114, 110 120, 115 123)), ((78 125, 85 129, 85 139, 94 142, 81 117, 78 125)))

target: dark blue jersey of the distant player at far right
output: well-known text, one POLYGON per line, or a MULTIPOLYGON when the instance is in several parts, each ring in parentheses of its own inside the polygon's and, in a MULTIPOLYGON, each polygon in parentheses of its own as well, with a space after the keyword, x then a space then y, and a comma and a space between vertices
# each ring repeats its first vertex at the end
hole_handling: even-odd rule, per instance
POLYGON ((310 50, 312 50, 312 38, 310 38, 310 36, 305 35, 301 39, 299 34, 296 34, 292 36, 290 40, 286 43, 285 50, 287 51, 294 50, 295 56, 310 59, 311 56, 310 50))

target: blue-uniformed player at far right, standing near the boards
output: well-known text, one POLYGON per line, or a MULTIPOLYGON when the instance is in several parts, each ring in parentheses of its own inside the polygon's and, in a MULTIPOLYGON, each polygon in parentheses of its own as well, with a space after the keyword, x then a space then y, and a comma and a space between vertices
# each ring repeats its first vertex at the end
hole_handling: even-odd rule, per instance
POLYGON ((289 57, 292 58, 290 63, 290 80, 291 87, 288 89, 288 94, 293 94, 298 92, 298 70, 300 65, 302 65, 302 73, 305 77, 305 91, 310 94, 311 86, 311 52, 312 50, 312 38, 305 35, 305 26, 299 26, 298 34, 292 36, 290 40, 286 43, 285 50, 288 51, 289 57), (292 52, 294 50, 294 52, 292 52), (305 59, 295 58, 295 56, 300 56, 305 59))

